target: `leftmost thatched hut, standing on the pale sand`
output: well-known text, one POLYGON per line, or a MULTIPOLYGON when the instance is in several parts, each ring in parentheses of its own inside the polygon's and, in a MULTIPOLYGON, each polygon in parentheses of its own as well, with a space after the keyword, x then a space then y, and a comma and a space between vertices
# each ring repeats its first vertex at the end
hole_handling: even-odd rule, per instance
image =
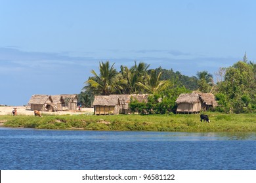
POLYGON ((31 110, 47 111, 51 108, 51 103, 53 103, 53 99, 50 95, 32 95, 28 106, 30 106, 31 110))

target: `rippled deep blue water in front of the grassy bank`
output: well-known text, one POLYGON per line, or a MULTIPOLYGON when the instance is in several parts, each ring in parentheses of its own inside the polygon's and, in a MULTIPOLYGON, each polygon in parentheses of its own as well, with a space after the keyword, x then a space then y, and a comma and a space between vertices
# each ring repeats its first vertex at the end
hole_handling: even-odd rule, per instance
POLYGON ((256 169, 256 133, 0 127, 0 169, 256 169))

